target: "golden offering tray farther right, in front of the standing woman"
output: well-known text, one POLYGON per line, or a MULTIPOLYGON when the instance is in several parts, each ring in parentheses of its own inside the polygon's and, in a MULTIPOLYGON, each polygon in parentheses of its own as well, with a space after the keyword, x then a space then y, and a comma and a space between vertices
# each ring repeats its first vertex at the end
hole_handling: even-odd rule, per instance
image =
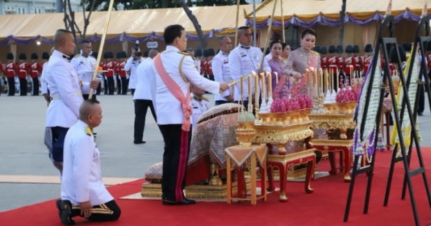
POLYGON ((356 123, 353 122, 352 113, 319 113, 309 114, 312 121, 311 129, 340 129, 341 139, 347 139, 348 129, 355 129, 356 123))

